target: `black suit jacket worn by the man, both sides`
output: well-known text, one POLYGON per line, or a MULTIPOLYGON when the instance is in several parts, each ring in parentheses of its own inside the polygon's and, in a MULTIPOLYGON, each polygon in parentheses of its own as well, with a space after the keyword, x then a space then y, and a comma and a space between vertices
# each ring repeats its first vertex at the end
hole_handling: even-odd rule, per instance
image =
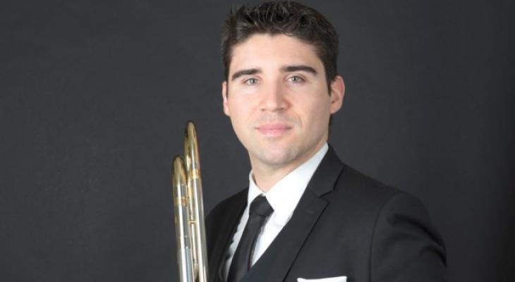
MULTIPOLYGON (((247 189, 207 216, 210 281, 221 281, 247 189)), ((329 151, 293 216, 244 282, 347 276, 347 282, 447 281, 444 243, 423 204, 343 164, 329 151)))

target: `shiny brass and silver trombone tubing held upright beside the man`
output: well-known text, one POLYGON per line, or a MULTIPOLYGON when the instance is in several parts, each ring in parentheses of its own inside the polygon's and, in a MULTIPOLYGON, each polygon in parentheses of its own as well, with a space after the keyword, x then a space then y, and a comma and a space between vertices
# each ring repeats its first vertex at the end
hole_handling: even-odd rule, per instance
POLYGON ((207 282, 204 204, 193 121, 186 123, 184 135, 184 157, 174 158, 171 173, 179 281, 207 282))

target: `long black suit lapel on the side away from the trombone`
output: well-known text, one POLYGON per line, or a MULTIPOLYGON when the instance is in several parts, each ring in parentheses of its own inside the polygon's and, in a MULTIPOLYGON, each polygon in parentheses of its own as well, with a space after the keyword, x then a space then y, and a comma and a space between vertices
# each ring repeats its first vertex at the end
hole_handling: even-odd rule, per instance
POLYGON ((332 147, 318 166, 301 200, 279 235, 257 260, 245 282, 284 281, 310 231, 327 206, 321 196, 334 189, 344 168, 332 147))

